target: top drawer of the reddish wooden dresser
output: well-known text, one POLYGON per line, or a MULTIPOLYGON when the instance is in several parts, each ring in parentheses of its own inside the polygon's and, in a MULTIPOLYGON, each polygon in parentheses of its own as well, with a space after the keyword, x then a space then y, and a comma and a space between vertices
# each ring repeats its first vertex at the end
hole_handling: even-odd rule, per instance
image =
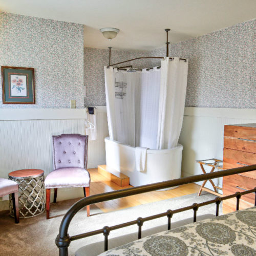
POLYGON ((256 129, 253 127, 225 125, 224 147, 256 153, 256 129))

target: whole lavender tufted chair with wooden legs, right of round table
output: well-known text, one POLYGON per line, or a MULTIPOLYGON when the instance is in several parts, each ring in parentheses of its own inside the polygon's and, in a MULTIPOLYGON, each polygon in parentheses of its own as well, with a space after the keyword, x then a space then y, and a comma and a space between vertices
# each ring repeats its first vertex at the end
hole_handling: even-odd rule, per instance
MULTIPOLYGON (((46 218, 50 218, 50 195, 54 188, 56 203, 59 187, 83 187, 84 197, 90 196, 90 174, 87 170, 88 135, 61 134, 52 136, 54 170, 46 177, 46 218)), ((90 205, 87 206, 90 216, 90 205)))

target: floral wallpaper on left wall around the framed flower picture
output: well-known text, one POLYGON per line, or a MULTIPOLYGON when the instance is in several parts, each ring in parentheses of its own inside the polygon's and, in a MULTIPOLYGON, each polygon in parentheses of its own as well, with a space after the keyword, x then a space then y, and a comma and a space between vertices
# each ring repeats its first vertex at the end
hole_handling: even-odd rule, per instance
POLYGON ((83 25, 0 12, 0 66, 35 69, 35 104, 3 104, 1 89, 0 108, 83 108, 83 25))

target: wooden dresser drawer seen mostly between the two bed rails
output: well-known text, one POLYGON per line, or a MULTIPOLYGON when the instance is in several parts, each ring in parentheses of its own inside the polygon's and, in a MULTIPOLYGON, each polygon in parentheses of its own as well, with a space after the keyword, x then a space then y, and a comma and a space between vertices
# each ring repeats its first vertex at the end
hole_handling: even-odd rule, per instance
MULTIPOLYGON (((223 195, 232 195, 236 192, 243 192, 246 190, 253 189, 256 186, 256 180, 251 179, 239 174, 230 175, 223 177, 223 195)), ((241 199, 254 203, 255 201, 255 194, 250 193, 247 195, 243 195, 241 199)))

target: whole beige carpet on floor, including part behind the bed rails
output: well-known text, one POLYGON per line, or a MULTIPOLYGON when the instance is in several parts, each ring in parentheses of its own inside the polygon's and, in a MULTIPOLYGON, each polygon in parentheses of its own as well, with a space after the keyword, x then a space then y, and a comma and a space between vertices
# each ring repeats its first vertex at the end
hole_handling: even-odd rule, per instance
MULTIPOLYGON (((139 205, 119 211, 102 213, 94 205, 91 205, 91 216, 88 218, 86 209, 82 209, 74 217, 69 228, 69 234, 79 234, 102 228, 105 225, 119 224, 124 221, 147 217, 149 215, 164 212, 167 209, 177 209, 190 205, 194 202, 204 202, 214 199, 211 194, 204 194, 197 197, 196 194, 187 195, 179 198, 162 200, 155 203, 139 205)), ((59 224, 67 209, 78 199, 60 201, 51 204, 51 219, 46 220, 45 213, 29 219, 21 219, 19 224, 14 224, 14 219, 9 217, 8 211, 0 212, 0 255, 58 255, 55 245, 55 238, 58 234, 59 224)), ((215 205, 203 206, 198 210, 198 215, 215 214, 215 205)), ((186 211, 173 217, 173 221, 179 221, 193 216, 193 211, 186 211)), ((146 222, 143 229, 151 228, 156 225, 167 223, 166 217, 146 222)), ((111 232, 112 237, 120 236, 127 232, 137 231, 137 226, 127 227, 111 232)), ((99 234, 91 238, 80 239, 71 242, 69 255, 74 255, 75 251, 83 245, 103 240, 103 235, 99 234)))

